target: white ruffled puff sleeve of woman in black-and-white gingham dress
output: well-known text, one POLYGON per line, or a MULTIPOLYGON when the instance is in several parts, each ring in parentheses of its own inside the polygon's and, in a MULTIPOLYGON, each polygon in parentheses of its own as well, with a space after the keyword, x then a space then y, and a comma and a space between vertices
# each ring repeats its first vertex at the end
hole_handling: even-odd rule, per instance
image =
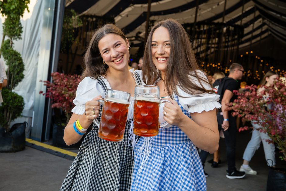
MULTIPOLYGON (((104 78, 102 78, 104 79, 104 78)), ((104 79, 105 80, 105 79, 104 79)), ((104 81, 105 82, 105 81, 104 81)), ((107 80, 106 80, 107 82, 107 80)), ((105 83, 106 83, 105 82, 105 83)), ((109 84, 108 84, 109 85, 109 84)), ((82 115, 85 110, 85 103, 91 101, 93 98, 101 95, 105 97, 103 88, 97 83, 97 80, 90 77, 85 77, 79 84, 76 90, 76 97, 73 100, 75 107, 72 112, 78 115, 82 115)))

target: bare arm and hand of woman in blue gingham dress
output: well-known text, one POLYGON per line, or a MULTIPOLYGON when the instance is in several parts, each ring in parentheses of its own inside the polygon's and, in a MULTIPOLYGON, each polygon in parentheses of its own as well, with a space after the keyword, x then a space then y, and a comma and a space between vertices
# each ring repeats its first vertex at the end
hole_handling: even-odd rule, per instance
MULTIPOLYGON (((167 99, 167 98, 165 98, 167 99)), ((191 113, 192 119, 183 114, 176 101, 167 99, 170 103, 165 103, 164 111, 167 114, 164 119, 170 125, 178 126, 194 143, 196 147, 209 153, 218 150, 218 122, 216 110, 202 111, 201 113, 191 113)), ((165 113, 163 111, 163 113, 165 113)))

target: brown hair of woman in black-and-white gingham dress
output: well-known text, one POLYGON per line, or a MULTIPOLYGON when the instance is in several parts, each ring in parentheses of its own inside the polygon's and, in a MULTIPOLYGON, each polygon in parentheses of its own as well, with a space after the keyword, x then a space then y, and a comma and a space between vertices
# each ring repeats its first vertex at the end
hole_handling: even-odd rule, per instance
POLYGON ((98 43, 107 34, 116 34, 126 41, 124 33, 114 24, 105 24, 103 27, 98 28, 92 35, 87 50, 84 55, 84 72, 82 73, 82 79, 89 76, 96 79, 105 75, 108 69, 107 64, 103 64, 103 59, 100 55, 98 43))

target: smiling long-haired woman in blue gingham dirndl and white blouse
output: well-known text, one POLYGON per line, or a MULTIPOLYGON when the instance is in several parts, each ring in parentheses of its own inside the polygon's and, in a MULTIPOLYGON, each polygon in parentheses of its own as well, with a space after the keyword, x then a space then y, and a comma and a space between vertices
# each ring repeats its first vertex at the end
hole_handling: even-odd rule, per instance
POLYGON ((196 147, 210 153, 218 149, 216 108, 221 105, 177 21, 167 19, 151 29, 142 78, 171 102, 160 110, 161 122, 169 126, 136 143, 131 190, 206 190, 196 147))

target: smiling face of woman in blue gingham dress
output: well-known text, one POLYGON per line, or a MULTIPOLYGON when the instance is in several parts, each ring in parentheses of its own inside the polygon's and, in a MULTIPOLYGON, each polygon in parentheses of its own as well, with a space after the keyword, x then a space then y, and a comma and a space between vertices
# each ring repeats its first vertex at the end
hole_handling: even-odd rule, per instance
POLYGON ((152 35, 151 53, 156 68, 165 72, 170 54, 170 36, 165 27, 157 28, 152 35))

